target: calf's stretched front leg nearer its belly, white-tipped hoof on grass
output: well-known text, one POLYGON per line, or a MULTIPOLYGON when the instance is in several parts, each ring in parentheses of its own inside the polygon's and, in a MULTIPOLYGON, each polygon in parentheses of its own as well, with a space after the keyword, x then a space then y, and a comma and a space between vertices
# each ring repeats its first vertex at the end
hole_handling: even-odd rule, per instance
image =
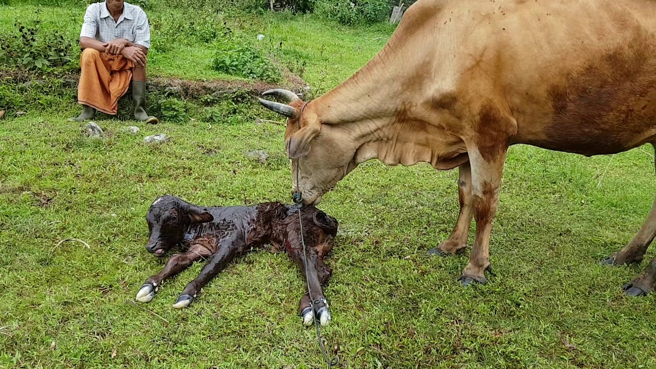
POLYGON ((175 301, 173 307, 180 309, 186 307, 194 301, 197 293, 207 282, 212 280, 220 271, 226 269, 228 264, 243 250, 244 242, 222 242, 218 250, 210 259, 209 263, 203 267, 201 273, 192 282, 189 282, 184 288, 180 297, 175 301))

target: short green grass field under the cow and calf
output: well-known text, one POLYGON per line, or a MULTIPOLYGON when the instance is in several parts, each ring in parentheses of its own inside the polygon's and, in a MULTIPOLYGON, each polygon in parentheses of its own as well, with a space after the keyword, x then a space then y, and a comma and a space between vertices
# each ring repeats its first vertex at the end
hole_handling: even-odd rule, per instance
MULTIPOLYGON (((10 30, 13 14, 28 19, 35 9, 6 8, 0 30, 10 30)), ((40 16, 76 37, 83 9, 47 8, 40 16)), ((176 10, 155 7, 151 17, 165 12, 176 10)), ((302 77, 324 91, 392 32, 315 16, 244 19, 243 32, 284 40, 283 58, 308 60, 302 77)), ((228 77, 207 67, 208 55, 207 47, 180 41, 152 56, 151 75, 228 77)), ((106 136, 91 139, 83 124, 66 121, 78 112, 71 94, 44 95, 24 115, 0 106, 8 108, 0 120, 0 367, 321 368, 314 328, 296 316, 304 281, 285 255, 251 253, 190 308, 174 310, 202 267, 194 265, 141 305, 161 318, 129 303, 163 266, 144 249, 146 210, 157 196, 222 206, 289 202, 283 127, 255 123, 277 117, 255 103, 229 112, 218 105, 232 115, 218 123, 192 116, 146 126, 100 117, 106 136), (142 130, 130 135, 127 125, 142 130), (171 141, 142 142, 154 133, 171 141), (268 152, 267 162, 249 158, 251 150, 268 152), (60 243, 72 238, 86 245, 60 243)), ((514 146, 491 238, 496 276, 473 288, 455 281, 468 255, 426 254, 455 223, 456 179, 457 171, 428 165, 367 162, 325 196, 320 207, 340 230, 327 260, 333 321, 322 333, 338 367, 656 367, 656 297, 621 290, 646 262, 598 263, 646 218, 651 148, 583 158, 514 146)))

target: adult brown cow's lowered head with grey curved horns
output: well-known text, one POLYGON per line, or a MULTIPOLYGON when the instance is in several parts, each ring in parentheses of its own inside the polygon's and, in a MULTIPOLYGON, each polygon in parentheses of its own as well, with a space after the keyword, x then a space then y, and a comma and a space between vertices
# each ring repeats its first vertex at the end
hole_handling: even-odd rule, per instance
POLYGON ((285 146, 291 159, 292 193, 304 205, 318 205, 323 194, 344 178, 357 163, 356 144, 339 125, 321 124, 317 109, 298 95, 283 89, 266 91, 287 104, 260 98, 260 104, 287 117, 285 146))

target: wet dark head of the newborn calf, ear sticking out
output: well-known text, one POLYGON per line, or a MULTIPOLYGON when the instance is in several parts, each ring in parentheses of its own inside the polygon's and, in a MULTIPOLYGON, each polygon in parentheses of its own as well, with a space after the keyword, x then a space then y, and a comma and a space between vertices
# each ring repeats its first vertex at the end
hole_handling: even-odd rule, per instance
POLYGON ((189 204, 175 196, 161 196, 153 202, 146 214, 150 232, 146 250, 157 257, 162 257, 182 242, 184 233, 190 225, 213 220, 214 217, 207 209, 189 204))

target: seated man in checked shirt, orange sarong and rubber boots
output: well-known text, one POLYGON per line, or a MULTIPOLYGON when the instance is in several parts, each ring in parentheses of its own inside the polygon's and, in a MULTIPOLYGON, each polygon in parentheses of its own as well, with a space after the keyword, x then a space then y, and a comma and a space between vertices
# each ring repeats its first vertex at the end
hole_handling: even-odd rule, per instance
POLYGON ((146 54, 150 29, 146 13, 123 0, 106 0, 87 7, 79 45, 82 73, 77 101, 82 114, 70 121, 92 119, 96 110, 115 115, 118 100, 132 81, 134 118, 157 123, 146 113, 146 54))

